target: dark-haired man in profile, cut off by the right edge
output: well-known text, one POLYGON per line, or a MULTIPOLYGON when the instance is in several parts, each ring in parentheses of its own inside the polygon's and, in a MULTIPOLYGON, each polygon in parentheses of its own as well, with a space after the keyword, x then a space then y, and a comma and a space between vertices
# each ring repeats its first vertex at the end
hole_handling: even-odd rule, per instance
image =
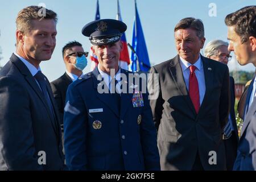
MULTIPOLYGON (((256 6, 243 7, 226 16, 229 51, 234 51, 239 64, 253 63, 256 67, 256 6)), ((243 126, 234 170, 256 170, 256 80, 247 89, 243 126)))

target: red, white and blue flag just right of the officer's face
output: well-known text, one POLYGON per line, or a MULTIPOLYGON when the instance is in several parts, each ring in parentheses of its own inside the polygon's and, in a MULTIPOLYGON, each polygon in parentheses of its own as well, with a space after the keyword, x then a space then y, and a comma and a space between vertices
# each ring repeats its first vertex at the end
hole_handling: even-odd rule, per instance
MULTIPOLYGON (((117 18, 116 19, 122 22, 119 0, 117 0, 117 18)), ((123 32, 123 34, 121 36, 121 42, 123 44, 123 49, 120 52, 119 66, 123 69, 128 70, 128 65, 130 64, 130 58, 129 58, 129 52, 128 52, 128 47, 127 47, 125 32, 123 32)))

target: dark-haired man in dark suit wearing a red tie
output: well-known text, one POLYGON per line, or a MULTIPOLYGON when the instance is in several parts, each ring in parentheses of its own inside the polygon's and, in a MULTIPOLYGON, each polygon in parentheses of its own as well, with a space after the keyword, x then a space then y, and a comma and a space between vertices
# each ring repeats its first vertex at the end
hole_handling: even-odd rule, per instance
MULTIPOLYGON (((150 105, 161 169, 224 170, 228 67, 200 55, 205 42, 201 20, 181 19, 174 34, 178 55, 150 71, 159 74, 159 97, 150 105)), ((151 88, 148 91, 151 96, 151 88)))

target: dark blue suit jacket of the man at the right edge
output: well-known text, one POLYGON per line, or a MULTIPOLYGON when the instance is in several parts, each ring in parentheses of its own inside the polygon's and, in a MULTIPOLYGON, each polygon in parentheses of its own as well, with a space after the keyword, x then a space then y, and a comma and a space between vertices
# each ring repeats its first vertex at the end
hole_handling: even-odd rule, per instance
MULTIPOLYGON (((251 81, 247 89, 246 103, 249 102, 251 90, 253 89, 253 81, 251 81)), ((241 130, 241 137, 238 143, 237 159, 234 163, 234 170, 238 171, 255 171, 256 170, 256 100, 247 110, 243 126, 241 130)))

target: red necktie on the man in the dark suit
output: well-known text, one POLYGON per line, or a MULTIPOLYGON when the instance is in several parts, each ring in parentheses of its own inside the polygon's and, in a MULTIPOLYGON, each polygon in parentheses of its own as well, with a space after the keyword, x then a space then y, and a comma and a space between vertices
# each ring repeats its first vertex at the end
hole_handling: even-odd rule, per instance
POLYGON ((198 81, 195 73, 196 67, 191 65, 189 69, 190 69, 189 96, 191 98, 191 101, 195 107, 196 114, 197 114, 200 108, 200 99, 199 99, 199 86, 198 86, 198 81))

